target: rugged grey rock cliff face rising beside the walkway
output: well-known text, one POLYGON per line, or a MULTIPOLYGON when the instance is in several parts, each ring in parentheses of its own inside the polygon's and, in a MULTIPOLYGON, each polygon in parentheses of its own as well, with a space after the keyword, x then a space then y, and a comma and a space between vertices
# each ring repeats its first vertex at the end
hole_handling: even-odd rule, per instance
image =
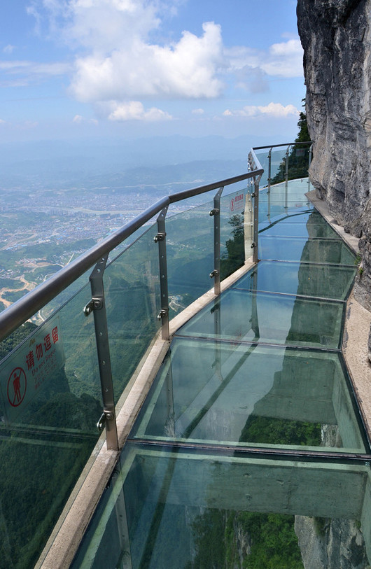
POLYGON ((347 232, 360 237, 358 290, 371 309, 371 0, 298 0, 311 178, 347 232))

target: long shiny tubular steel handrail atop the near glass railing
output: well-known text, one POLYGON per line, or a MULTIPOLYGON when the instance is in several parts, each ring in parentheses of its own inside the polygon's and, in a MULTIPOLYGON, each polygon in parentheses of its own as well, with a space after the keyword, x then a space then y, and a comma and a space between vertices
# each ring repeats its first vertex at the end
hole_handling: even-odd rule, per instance
POLYGON ((125 239, 127 239, 127 237, 130 237, 134 231, 153 218, 153 216, 155 216, 156 213, 159 213, 164 207, 169 204, 180 202, 188 197, 200 195, 205 192, 209 192, 210 190, 216 190, 222 186, 230 185, 248 178, 258 177, 260 179, 264 170, 257 159, 255 164, 258 166, 258 169, 255 169, 254 171, 248 171, 239 176, 202 185, 197 188, 191 188, 190 190, 185 190, 183 192, 177 192, 159 199, 158 202, 155 202, 155 204, 148 207, 148 209, 143 213, 140 213, 139 216, 126 223, 119 230, 111 234, 109 237, 106 237, 106 239, 100 241, 85 253, 82 253, 76 260, 50 276, 47 281, 36 286, 36 288, 20 298, 20 300, 0 312, 0 342, 20 325, 25 323, 25 321, 31 318, 31 316, 34 316, 38 310, 44 307, 45 304, 48 304, 48 302, 61 293, 62 290, 65 290, 67 286, 73 283, 73 281, 76 281, 79 276, 82 276, 88 269, 97 263, 100 258, 120 245, 125 239))

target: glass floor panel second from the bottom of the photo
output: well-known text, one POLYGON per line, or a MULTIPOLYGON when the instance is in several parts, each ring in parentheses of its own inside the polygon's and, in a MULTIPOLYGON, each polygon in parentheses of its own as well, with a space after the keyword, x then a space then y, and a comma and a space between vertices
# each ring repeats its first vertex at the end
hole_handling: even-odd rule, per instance
POLYGON ((365 452, 340 358, 176 339, 134 437, 365 452))

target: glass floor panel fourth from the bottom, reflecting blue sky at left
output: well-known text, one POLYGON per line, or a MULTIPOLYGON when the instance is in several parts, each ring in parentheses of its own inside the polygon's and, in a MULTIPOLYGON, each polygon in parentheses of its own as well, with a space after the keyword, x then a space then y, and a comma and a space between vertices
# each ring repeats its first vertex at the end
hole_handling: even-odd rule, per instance
POLYGON ((357 267, 260 261, 232 288, 345 300, 357 267))

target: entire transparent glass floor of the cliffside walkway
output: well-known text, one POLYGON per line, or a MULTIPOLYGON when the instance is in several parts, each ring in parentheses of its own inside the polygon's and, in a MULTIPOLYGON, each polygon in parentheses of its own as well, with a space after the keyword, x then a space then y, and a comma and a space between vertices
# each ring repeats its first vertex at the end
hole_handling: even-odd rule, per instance
POLYGON ((260 192, 260 261, 176 332, 73 569, 367 567, 355 255, 305 192, 260 192))

